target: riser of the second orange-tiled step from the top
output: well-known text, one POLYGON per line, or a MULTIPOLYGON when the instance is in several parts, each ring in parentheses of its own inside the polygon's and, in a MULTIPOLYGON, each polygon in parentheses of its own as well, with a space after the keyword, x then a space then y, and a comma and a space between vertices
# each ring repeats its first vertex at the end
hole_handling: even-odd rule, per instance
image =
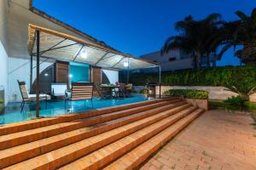
POLYGON ((5 140, 3 142, 0 142, 0 150, 4 150, 4 149, 8 149, 10 147, 14 147, 20 144, 26 144, 26 143, 30 143, 32 141, 36 141, 39 139, 45 139, 45 138, 49 138, 51 136, 55 136, 57 134, 60 133, 67 133, 69 131, 73 131, 75 129, 79 129, 82 127, 87 127, 96 123, 100 123, 100 122, 107 122, 113 119, 117 119, 119 117, 123 117, 123 116, 129 116, 132 114, 136 114, 138 112, 141 111, 148 111, 163 105, 167 105, 167 104, 172 104, 179 101, 178 99, 174 99, 170 102, 162 102, 162 103, 157 103, 155 105, 150 105, 150 106, 145 106, 143 108, 138 108, 138 109, 134 109, 132 111, 124 111, 123 113, 118 113, 118 114, 106 114, 106 115, 102 115, 99 118, 96 119, 92 119, 92 120, 88 120, 88 121, 84 121, 84 122, 78 122, 76 124, 72 124, 70 126, 66 126, 66 127, 60 127, 60 128, 55 128, 49 131, 45 131, 45 132, 40 132, 40 133, 34 133, 32 135, 27 135, 27 136, 22 136, 21 138, 17 138, 17 139, 9 139, 9 140, 5 140))

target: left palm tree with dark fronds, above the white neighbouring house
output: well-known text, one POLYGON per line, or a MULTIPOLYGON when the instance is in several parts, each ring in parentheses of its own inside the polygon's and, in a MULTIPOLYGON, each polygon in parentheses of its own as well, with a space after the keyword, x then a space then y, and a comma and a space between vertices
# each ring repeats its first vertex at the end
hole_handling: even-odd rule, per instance
POLYGON ((210 64, 210 54, 216 52, 219 42, 214 40, 218 35, 221 26, 220 14, 210 14, 204 20, 194 20, 191 15, 184 20, 178 21, 175 30, 179 35, 169 37, 161 54, 167 54, 174 48, 180 48, 185 53, 192 54, 194 68, 201 67, 201 59, 207 56, 207 63, 210 64))

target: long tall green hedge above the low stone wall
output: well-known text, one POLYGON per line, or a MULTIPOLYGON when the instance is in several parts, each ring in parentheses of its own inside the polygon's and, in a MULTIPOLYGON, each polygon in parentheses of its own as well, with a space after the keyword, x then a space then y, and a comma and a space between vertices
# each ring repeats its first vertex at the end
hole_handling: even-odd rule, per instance
MULTIPOLYGON (((120 72, 121 80, 125 73, 120 72)), ((232 77, 239 77, 241 81, 253 81, 256 84, 256 66, 224 66, 197 70, 183 70, 162 73, 162 85, 166 86, 224 86, 232 77)), ((130 75, 130 82, 137 86, 144 86, 147 82, 159 82, 158 73, 134 73, 130 75)))

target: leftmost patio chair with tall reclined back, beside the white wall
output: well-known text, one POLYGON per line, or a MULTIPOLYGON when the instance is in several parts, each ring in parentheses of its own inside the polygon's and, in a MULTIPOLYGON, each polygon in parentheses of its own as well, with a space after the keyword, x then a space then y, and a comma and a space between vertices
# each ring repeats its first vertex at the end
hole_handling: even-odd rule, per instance
MULTIPOLYGON (((22 97, 21 102, 21 111, 24 108, 24 105, 26 103, 35 102, 37 100, 37 94, 29 94, 26 88, 26 82, 20 82, 17 80, 19 87, 20 87, 20 94, 22 97)), ((50 99, 50 96, 48 94, 39 94, 39 100, 45 100, 45 107, 47 108, 47 100, 50 99)))

